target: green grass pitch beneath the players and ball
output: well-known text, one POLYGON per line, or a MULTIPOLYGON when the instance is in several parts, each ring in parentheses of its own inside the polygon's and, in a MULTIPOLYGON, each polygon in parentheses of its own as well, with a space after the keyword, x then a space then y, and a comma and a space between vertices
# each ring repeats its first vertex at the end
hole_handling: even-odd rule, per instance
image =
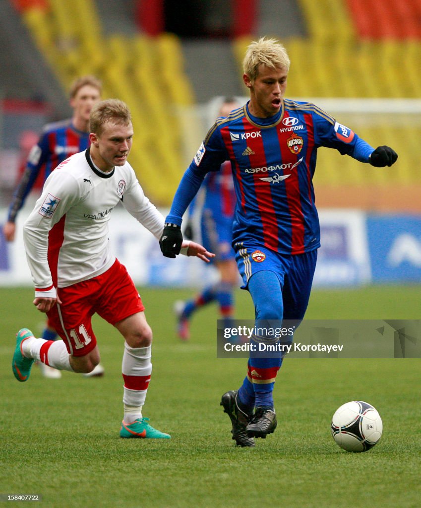
MULTIPOLYGON (((106 375, 64 372, 27 383, 12 374, 15 333, 39 332, 31 289, 1 289, 0 494, 38 494, 44 507, 285 508, 418 507, 421 499, 419 359, 290 359, 275 385, 278 428, 239 449, 219 406, 238 388, 244 359, 217 359, 215 307, 196 314, 189 342, 174 332, 172 305, 187 290, 140 289, 154 331, 153 374, 144 416, 171 440, 123 440, 123 343, 94 318, 106 375), (366 400, 384 430, 367 453, 341 450, 330 434, 342 403, 366 400)), ((314 290, 311 319, 420 319, 421 288, 314 290)), ((237 317, 252 319, 238 291, 237 317)), ((31 504, 32 505, 32 504, 31 504)))

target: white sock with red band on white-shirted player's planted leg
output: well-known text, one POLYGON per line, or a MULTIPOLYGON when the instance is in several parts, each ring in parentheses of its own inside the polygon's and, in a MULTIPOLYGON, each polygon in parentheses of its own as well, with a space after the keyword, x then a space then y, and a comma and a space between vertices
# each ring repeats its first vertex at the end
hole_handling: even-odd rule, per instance
POLYGON ((151 346, 130 347, 124 342, 123 362, 121 366, 124 378, 124 416, 125 423, 142 418, 142 406, 145 403, 149 380, 152 373, 151 346))

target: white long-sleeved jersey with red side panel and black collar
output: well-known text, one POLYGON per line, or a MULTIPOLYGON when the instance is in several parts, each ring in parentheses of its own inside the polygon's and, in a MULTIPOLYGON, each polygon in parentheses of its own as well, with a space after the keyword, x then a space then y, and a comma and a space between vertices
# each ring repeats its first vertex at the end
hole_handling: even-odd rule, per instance
POLYGON ((88 148, 51 173, 23 227, 37 296, 55 297, 54 287, 96 277, 112 266, 108 222, 119 202, 160 238, 164 217, 145 197, 128 163, 102 172, 88 148))

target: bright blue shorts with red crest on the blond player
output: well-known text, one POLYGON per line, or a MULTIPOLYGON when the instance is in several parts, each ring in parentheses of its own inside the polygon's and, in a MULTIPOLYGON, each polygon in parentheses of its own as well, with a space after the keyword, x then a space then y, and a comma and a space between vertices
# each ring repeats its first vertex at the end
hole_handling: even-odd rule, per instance
POLYGON ((236 261, 243 278, 241 289, 248 289, 253 274, 270 271, 278 277, 283 295, 284 319, 304 316, 316 269, 317 249, 304 254, 286 255, 256 245, 236 244, 236 261))

